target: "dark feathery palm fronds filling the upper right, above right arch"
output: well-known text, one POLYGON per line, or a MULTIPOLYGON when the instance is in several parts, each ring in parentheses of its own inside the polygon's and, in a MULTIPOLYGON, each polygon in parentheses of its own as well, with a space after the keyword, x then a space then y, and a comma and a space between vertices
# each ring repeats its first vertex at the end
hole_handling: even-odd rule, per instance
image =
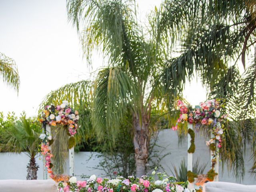
POLYGON ((179 55, 169 56, 166 62, 162 78, 166 92, 181 96, 184 83, 196 76, 208 88, 209 97, 226 99, 226 110, 234 122, 220 153, 223 162, 229 159, 236 176, 243 177, 242 148, 249 144, 252 151, 256 149, 256 56, 250 56, 256 44, 256 2, 165 0, 158 10, 157 25, 160 46, 172 49, 176 40, 181 45, 179 55), (251 57, 247 64, 246 56, 251 57), (173 90, 179 90, 178 94, 173 90))

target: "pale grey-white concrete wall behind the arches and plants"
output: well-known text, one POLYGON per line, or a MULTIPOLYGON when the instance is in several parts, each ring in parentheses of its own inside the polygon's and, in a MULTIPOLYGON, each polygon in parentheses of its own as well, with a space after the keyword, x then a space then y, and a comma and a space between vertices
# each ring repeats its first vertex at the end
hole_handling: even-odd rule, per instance
MULTIPOLYGON (((193 155, 194 161, 200 158, 200 163, 208 163, 206 171, 210 169, 210 152, 208 147, 205 145, 204 137, 196 134, 195 139, 196 151, 193 155)), ((162 159, 161 164, 164 167, 168 175, 171 175, 172 164, 177 168, 180 165, 180 161, 187 157, 187 140, 182 145, 178 145, 178 136, 176 132, 168 129, 162 130, 159 133, 159 139, 157 145, 164 146, 165 149, 156 147, 156 150, 162 151, 160 155, 164 155, 171 152, 170 155, 162 159)), ((81 174, 101 176, 103 173, 101 170, 93 170, 100 162, 100 159, 96 157, 97 153, 90 152, 79 152, 75 154, 75 174, 80 179, 81 174)), ((1 174, 0 179, 26 179, 26 165, 28 164, 29 158, 26 154, 13 154, 13 153, 0 153, 0 167, 1 174)), ((40 168, 38 170, 38 179, 43 178, 43 164, 40 158, 36 158, 36 162, 40 168)), ((252 160, 250 160, 250 154, 245 157, 246 175, 242 184, 256 184, 256 180, 253 176, 248 173, 252 166, 252 160)), ((161 170, 160 170, 161 171, 161 170)), ((227 169, 221 169, 220 166, 220 181, 225 182, 236 182, 236 178, 232 176, 232 173, 228 173, 227 169)))

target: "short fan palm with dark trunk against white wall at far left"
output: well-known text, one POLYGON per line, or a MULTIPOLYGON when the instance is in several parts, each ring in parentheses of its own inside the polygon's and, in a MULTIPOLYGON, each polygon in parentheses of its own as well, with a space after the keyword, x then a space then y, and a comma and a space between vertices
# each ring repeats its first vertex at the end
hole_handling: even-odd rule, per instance
POLYGON ((30 118, 22 116, 20 120, 2 130, 0 134, 0 152, 25 152, 30 158, 27 166, 27 180, 37 179, 36 155, 40 144, 41 127, 30 118))

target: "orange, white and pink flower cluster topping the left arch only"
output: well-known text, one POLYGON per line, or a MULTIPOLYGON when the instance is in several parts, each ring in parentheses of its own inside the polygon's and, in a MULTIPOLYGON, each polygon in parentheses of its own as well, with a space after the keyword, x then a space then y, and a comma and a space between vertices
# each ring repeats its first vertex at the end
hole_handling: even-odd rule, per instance
POLYGON ((68 106, 68 101, 63 101, 61 105, 47 105, 44 107, 42 117, 39 121, 42 124, 51 126, 65 125, 68 126, 68 131, 71 135, 76 134, 78 128, 77 121, 79 120, 78 111, 74 111, 68 106))

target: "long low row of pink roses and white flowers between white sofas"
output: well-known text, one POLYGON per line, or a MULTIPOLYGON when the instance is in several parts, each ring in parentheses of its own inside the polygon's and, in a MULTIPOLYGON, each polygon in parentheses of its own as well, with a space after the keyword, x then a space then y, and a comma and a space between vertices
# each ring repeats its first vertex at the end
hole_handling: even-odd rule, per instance
POLYGON ((71 177, 66 186, 63 182, 58 183, 58 192, 190 192, 188 182, 178 184, 175 177, 166 177, 164 173, 157 173, 159 180, 155 180, 154 174, 155 171, 149 177, 118 176, 115 179, 92 175, 87 181, 71 177))

